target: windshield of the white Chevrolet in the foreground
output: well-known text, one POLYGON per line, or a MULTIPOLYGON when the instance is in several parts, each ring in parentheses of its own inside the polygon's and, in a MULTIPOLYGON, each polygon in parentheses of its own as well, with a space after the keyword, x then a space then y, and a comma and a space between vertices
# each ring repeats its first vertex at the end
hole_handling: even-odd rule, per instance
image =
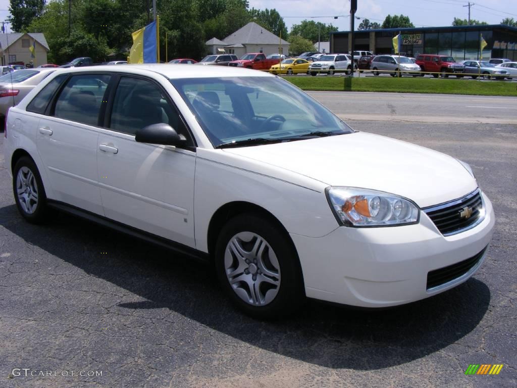
POLYGON ((351 133, 339 117, 277 77, 172 79, 211 143, 281 142, 351 133))

